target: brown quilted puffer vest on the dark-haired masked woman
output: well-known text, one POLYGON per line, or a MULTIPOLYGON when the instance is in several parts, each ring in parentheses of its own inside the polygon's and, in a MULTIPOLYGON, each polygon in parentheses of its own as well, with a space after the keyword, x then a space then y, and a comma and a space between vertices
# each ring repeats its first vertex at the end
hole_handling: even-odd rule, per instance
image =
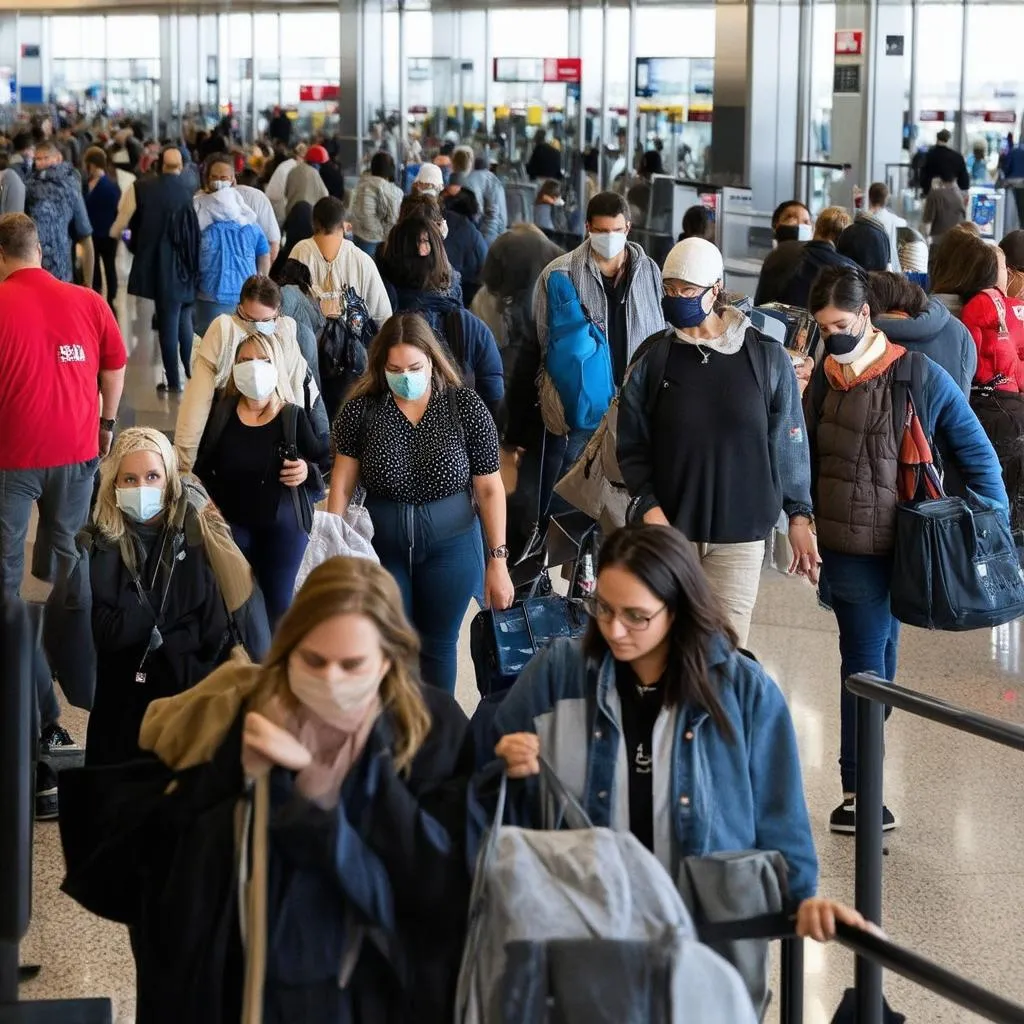
POLYGON ((885 555, 895 545, 899 447, 893 370, 849 391, 829 387, 817 428, 818 544, 848 555, 885 555))

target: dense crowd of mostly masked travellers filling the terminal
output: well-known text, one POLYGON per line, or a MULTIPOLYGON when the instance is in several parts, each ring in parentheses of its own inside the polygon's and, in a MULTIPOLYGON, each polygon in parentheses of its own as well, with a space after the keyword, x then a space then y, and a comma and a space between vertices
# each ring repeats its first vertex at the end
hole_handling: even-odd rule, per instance
MULTIPOLYGON (((85 757, 103 768, 71 798, 66 886, 131 928, 138 1020, 239 1019, 244 993, 268 1022, 452 1019, 495 765, 521 823, 549 824, 535 783, 550 769, 673 879, 688 858, 777 851, 800 934, 862 925, 818 896, 790 710, 748 649, 766 541, 785 531, 790 572, 834 612, 842 677, 895 679, 897 378, 911 368, 948 486, 1016 516, 1024 473, 972 389, 1024 384, 1024 244, 950 227, 929 297, 900 272, 881 190, 853 219, 782 204, 756 300, 808 310, 815 365, 726 293, 706 215, 687 213, 658 266, 630 239, 628 199, 598 193, 562 252, 536 225, 507 228, 471 151, 450 175, 422 164, 408 196, 379 153, 349 196, 326 146, 284 134, 254 184, 216 132, 195 152, 119 133, 81 173, 68 141, 19 136, 25 210, 0 215, 4 592, 38 505, 33 572, 57 584, 47 635, 68 646, 61 624, 85 609, 85 757), (122 169, 137 172, 123 188, 122 169), (182 392, 173 441, 117 429, 125 231, 162 391, 182 392), (93 233, 103 244, 80 259, 95 291, 70 284, 73 243, 93 233), (466 613, 513 605, 510 565, 571 508, 555 486, 609 430, 628 508, 602 520, 595 579, 570 595, 586 633, 538 653, 471 724, 454 699, 466 613), (355 512, 373 557, 330 558, 297 587, 316 517, 355 512), (262 629, 242 623, 225 559, 251 573, 262 629), (234 869, 256 780, 254 981, 253 933, 225 928, 224 907, 255 898, 234 869), (77 842, 93 818, 118 835, 77 842), (182 942, 202 964, 169 955, 182 942)), ((41 748, 67 746, 51 675, 36 687, 41 748)), ((853 833, 840 691, 829 826, 853 833)), ((58 779, 37 772, 52 819, 58 779)))

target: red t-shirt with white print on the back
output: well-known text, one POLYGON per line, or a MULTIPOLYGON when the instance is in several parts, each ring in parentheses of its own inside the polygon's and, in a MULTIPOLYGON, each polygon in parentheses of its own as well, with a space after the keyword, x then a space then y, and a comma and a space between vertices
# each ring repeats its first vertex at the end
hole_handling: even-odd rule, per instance
POLYGON ((99 372, 127 361, 103 299, 45 270, 0 284, 0 470, 99 454, 99 372))

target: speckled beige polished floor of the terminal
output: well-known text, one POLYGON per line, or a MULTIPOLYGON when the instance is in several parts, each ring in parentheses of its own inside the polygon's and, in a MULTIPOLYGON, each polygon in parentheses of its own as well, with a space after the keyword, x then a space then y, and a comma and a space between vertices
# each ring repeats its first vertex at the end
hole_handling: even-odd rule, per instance
MULTIPOLYGON (((148 331, 152 310, 132 300, 125 316, 132 353, 126 404, 137 422, 173 427, 176 400, 157 396, 159 358, 148 331)), ((466 634, 464 633, 464 641, 466 634)), ((809 588, 765 577, 751 647, 786 693, 800 736, 807 799, 821 860, 821 892, 852 901, 853 843, 830 836, 828 812, 839 800, 839 651, 830 615, 809 588)), ((899 681, 1024 723, 1019 624, 992 632, 904 633, 899 681)), ((475 701, 468 642, 461 647, 459 696, 475 701)), ((84 737, 84 721, 67 723, 84 737)), ((896 713, 887 733, 886 798, 901 827, 889 839, 885 927, 926 956, 1024 1001, 1024 755, 896 713)), ((57 829, 36 834, 35 906, 23 958, 43 965, 23 997, 111 995, 116 1019, 133 1016, 133 969, 122 928, 86 913, 58 891, 62 873, 57 829)), ((839 947, 807 949, 808 1024, 826 1024, 853 977, 839 947)), ((974 1015, 898 978, 886 991, 911 1022, 951 1024, 974 1015)), ((773 1018, 770 1018, 773 1019, 773 1018)), ((312 1024, 312 1022, 310 1022, 312 1024)))

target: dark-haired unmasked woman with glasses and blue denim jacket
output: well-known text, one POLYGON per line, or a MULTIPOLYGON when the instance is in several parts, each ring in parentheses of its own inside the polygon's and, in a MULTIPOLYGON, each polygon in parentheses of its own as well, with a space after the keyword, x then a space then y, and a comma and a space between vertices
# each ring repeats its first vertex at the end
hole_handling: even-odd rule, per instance
MULTIPOLYGON (((829 939, 836 918, 862 926, 815 895, 785 698, 737 650, 692 546, 662 526, 615 531, 589 610, 587 634, 534 657, 498 709, 495 753, 509 776, 537 775, 543 757, 595 825, 633 833, 677 881, 684 857, 777 850, 798 934, 829 939)), ((537 806, 515 801, 522 824, 548 825, 537 806)))

